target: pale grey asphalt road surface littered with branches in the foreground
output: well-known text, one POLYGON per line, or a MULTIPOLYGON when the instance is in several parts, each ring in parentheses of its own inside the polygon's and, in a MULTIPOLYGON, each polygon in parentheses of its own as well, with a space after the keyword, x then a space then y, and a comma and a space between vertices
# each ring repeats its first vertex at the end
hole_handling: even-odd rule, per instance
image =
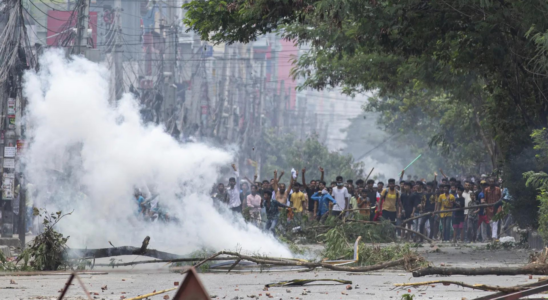
MULTIPOLYGON (((440 247, 440 252, 425 253, 431 248, 419 248, 419 252, 434 265, 479 267, 479 266, 518 266, 527 262, 529 251, 525 250, 477 250, 471 247, 440 247)), ((141 260, 141 257, 119 257, 124 262, 141 260)), ((146 258, 145 258, 146 259, 146 258)), ((98 260, 97 263, 108 263, 109 259, 98 260)), ((104 271, 103 275, 81 275, 86 289, 94 299, 131 298, 153 291, 174 287, 174 282, 181 282, 185 275, 169 270, 166 264, 149 264, 135 267, 120 267, 94 269, 104 271), (107 286, 102 291, 101 287, 107 286), (97 293, 96 295, 94 293, 97 293)), ((403 294, 414 294, 415 299, 474 299, 489 293, 464 289, 457 286, 436 285, 422 288, 395 289, 394 283, 420 282, 436 280, 434 276, 413 278, 403 270, 385 270, 369 274, 347 274, 320 270, 317 272, 299 273, 296 271, 276 272, 273 270, 260 272, 201 273, 199 275, 207 292, 215 296, 213 299, 401 299, 403 294), (345 279, 351 280, 352 290, 340 284, 309 284, 305 287, 278 287, 264 291, 264 285, 291 279, 345 279)), ((60 289, 64 286, 68 275, 40 275, 0 277, 0 299, 57 299, 60 289), (16 284, 10 283, 14 280, 16 284)), ((537 276, 452 276, 443 277, 447 280, 463 281, 470 284, 483 283, 488 285, 512 286, 532 283, 537 276)), ((167 293, 173 296, 175 291, 167 293)), ((164 295, 150 299, 163 299, 164 295)), ((538 298, 538 297, 537 297, 538 298)), ((70 287, 65 299, 86 299, 85 293, 77 282, 70 287)))

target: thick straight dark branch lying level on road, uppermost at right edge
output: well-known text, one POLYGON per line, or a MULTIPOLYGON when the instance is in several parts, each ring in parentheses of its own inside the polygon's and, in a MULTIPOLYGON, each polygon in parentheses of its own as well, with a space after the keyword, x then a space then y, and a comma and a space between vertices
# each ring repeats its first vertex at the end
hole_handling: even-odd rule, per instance
POLYGON ((548 264, 528 264, 522 267, 490 267, 490 268, 445 268, 426 267, 413 271, 413 277, 428 275, 548 275, 548 264))

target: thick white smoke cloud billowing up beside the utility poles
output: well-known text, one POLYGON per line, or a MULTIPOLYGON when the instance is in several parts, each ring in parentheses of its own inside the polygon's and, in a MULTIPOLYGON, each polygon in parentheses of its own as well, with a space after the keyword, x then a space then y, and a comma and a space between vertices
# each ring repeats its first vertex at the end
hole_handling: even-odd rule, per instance
POLYGON ((149 235, 151 248, 182 254, 241 248, 290 256, 273 237, 214 209, 208 193, 219 168, 232 162, 230 153, 181 145, 161 127, 143 125, 128 94, 110 105, 109 72, 98 64, 49 50, 40 68, 24 78, 25 172, 38 206, 74 210, 59 223, 71 246, 139 245, 149 235), (179 223, 138 221, 134 186, 156 189, 179 223))

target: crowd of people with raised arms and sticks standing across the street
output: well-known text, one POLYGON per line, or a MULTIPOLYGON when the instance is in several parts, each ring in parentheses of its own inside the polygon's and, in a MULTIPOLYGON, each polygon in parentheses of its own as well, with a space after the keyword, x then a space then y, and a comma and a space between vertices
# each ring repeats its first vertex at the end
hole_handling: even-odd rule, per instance
MULTIPOLYGON (((215 201, 227 205, 236 213, 249 213, 250 222, 276 234, 280 211, 287 210, 287 218, 296 226, 308 220, 325 222, 328 217, 358 218, 398 225, 397 235, 403 240, 422 241, 424 237, 444 242, 487 242, 498 237, 512 225, 511 215, 502 220, 496 214, 505 201, 511 201, 508 189, 495 177, 448 178, 432 181, 408 176, 399 181, 389 179, 385 186, 373 179, 349 179, 337 176, 335 181, 320 179, 306 181, 306 170, 292 170, 289 184, 282 183, 284 172, 274 172, 271 180, 257 182, 240 175, 235 165, 234 177, 213 187, 215 201), (503 223, 503 224, 501 224, 503 223), (499 226, 501 225, 501 226, 499 226), (402 228, 403 227, 403 228, 402 228)), ((443 173, 442 173, 443 174, 443 173)), ((284 215, 285 216, 285 215, 284 215)))

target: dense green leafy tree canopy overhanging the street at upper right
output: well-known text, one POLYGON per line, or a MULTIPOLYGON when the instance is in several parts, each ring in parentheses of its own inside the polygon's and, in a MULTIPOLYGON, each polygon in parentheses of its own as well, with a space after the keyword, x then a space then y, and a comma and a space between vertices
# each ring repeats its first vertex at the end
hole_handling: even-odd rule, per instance
MULTIPOLYGON (((485 157, 518 201, 535 203, 521 174, 546 168, 530 157, 530 135, 547 125, 548 2, 194 0, 184 7, 190 30, 214 43, 279 31, 306 45, 293 69, 302 87, 376 91, 367 109, 381 112, 387 130, 415 133, 417 147, 428 141, 455 167, 485 157)), ((527 210, 522 223, 536 218, 527 210)))

